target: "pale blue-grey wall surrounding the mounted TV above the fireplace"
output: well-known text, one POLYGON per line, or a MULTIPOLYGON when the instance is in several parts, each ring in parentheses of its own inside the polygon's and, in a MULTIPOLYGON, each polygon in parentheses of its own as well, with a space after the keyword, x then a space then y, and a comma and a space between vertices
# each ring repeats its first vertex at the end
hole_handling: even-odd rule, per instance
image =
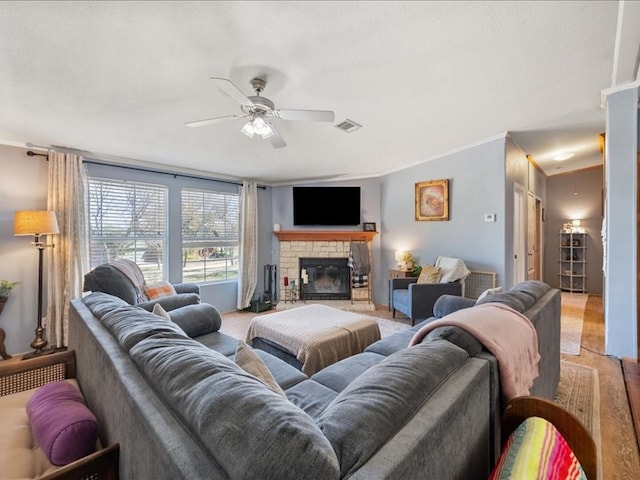
MULTIPOLYGON (((380 230, 380 178, 368 178, 359 180, 346 180, 342 182, 330 183, 310 183, 305 186, 359 186, 360 187, 360 207, 362 210, 362 222, 375 222, 376 228, 380 230)), ((274 187, 273 191, 273 223, 279 223, 282 230, 362 230, 358 227, 294 227, 293 226, 293 186, 274 187)), ((273 226, 272 226, 273 227, 273 226)), ((271 248, 273 252, 273 263, 278 264, 280 258, 280 244, 275 235, 272 235, 271 248)), ((376 235, 371 242, 371 275, 374 279, 373 301, 382 303, 379 296, 379 279, 384 275, 386 269, 380 269, 380 235, 376 235)), ((386 295, 386 293, 385 293, 386 295)), ((386 297, 385 297, 386 298, 386 297)))

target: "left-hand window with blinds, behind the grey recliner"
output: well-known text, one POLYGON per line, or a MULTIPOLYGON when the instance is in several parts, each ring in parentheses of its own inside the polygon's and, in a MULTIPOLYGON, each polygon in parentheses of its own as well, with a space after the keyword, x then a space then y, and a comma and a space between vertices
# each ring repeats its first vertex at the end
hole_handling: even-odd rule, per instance
POLYGON ((133 260, 149 283, 167 278, 168 189, 102 178, 89 180, 91 267, 133 260))

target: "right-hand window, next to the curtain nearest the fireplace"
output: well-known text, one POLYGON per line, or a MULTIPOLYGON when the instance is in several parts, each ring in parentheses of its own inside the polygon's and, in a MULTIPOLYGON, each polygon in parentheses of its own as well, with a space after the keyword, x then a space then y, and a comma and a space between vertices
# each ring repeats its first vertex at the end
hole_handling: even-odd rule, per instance
POLYGON ((238 277, 238 195, 182 189, 182 281, 238 277))

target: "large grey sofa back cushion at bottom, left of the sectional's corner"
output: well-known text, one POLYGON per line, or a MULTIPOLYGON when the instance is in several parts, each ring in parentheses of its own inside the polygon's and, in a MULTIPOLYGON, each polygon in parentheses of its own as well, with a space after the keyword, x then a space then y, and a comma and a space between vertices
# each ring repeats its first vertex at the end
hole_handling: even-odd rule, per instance
POLYGON ((130 354, 229 478, 339 478, 311 417, 224 355, 187 337, 154 336, 130 354))

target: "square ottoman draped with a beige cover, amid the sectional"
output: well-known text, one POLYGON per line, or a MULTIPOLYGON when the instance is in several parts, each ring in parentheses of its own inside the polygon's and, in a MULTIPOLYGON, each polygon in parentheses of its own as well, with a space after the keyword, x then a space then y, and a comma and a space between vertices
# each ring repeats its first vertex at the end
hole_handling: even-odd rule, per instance
POLYGON ((255 317, 247 343, 311 376, 380 340, 375 319, 326 305, 305 305, 255 317))

